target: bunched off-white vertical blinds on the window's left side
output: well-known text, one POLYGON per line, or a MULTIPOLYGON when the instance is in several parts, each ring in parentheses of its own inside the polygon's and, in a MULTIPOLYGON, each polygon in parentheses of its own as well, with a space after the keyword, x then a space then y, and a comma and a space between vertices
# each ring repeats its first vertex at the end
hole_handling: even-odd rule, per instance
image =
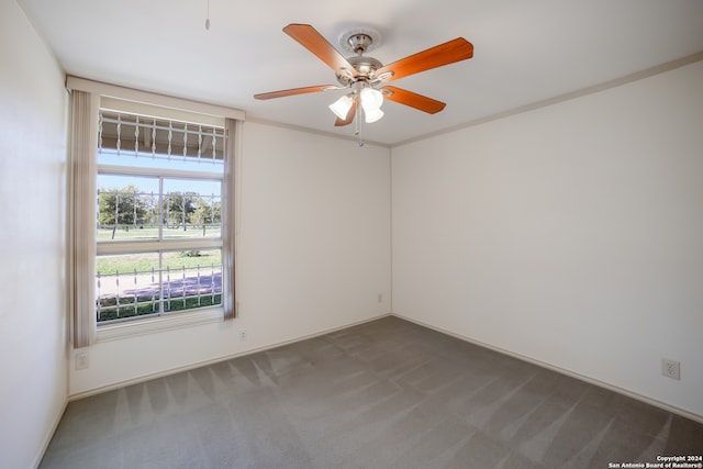
POLYGON ((99 97, 71 91, 69 301, 74 347, 86 347, 96 335, 96 153, 99 97))

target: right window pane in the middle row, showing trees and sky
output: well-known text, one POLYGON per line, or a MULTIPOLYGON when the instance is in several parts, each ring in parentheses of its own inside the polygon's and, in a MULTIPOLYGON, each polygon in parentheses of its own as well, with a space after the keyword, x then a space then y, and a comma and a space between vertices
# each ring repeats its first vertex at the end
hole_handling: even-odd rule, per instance
POLYGON ((222 181, 164 179, 164 238, 222 236, 222 181))

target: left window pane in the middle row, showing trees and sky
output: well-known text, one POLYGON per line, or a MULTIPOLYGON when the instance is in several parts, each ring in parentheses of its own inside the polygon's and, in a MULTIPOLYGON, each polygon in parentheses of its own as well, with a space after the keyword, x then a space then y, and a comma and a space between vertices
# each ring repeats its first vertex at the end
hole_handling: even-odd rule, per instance
POLYGON ((158 238, 158 178, 98 175, 98 242, 158 238))

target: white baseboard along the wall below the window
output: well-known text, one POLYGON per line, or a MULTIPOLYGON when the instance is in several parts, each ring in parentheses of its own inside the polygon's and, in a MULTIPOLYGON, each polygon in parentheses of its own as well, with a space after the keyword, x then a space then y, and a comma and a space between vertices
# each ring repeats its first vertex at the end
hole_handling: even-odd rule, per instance
MULTIPOLYGON (((232 358, 245 357, 247 355, 257 354, 259 351, 270 350, 270 349, 274 349, 274 348, 277 348, 277 347, 282 347, 284 345, 290 345, 290 344, 294 344, 297 342, 306 340, 309 338, 320 337, 322 335, 326 335, 326 334, 331 334, 333 332, 342 331, 342 330, 345 330, 347 327, 353 327, 353 326, 356 326, 356 325, 370 323, 371 321, 377 321, 377 320, 380 320, 382 317, 388 317, 390 315, 391 315, 391 313, 384 313, 384 314, 380 314, 378 316, 368 317, 366 320, 356 321, 354 323, 345 324, 345 325, 339 326, 339 327, 333 327, 333 328, 324 330, 324 331, 316 332, 316 333, 313 333, 313 334, 308 334, 308 335, 304 335, 304 336, 301 336, 301 337, 292 338, 290 340, 283 340, 283 342, 278 342, 278 343, 275 343, 275 344, 268 344, 268 345, 265 345, 265 346, 261 346, 261 347, 252 348, 252 349, 248 349, 248 350, 245 350, 245 351, 239 351, 239 353, 236 353, 236 354, 227 354, 227 355, 219 356, 219 357, 211 358, 211 359, 208 359, 208 360, 197 361, 197 362, 193 362, 193 364, 183 365, 181 367, 170 368, 168 370, 158 371, 158 372, 150 373, 150 375, 144 375, 144 376, 141 376, 141 377, 137 377, 137 378, 114 382, 112 384, 107 384, 107 386, 103 386, 103 387, 100 387, 100 388, 90 389, 88 391, 77 392, 75 394, 70 394, 68 397, 68 401, 67 402, 77 401, 79 399, 88 398, 90 395, 100 394, 102 392, 114 391, 115 389, 124 388, 126 386, 132 386, 132 384, 138 384, 141 382, 149 381, 152 379, 164 378, 164 377, 167 377, 167 376, 170 376, 170 375, 175 375, 175 373, 179 373, 179 372, 182 372, 182 371, 189 371, 189 370, 192 370, 192 369, 196 369, 196 368, 205 367, 205 366, 209 366, 209 365, 214 365, 214 364, 217 364, 220 361, 231 360, 232 358)), ((52 435, 53 435, 53 433, 52 433, 52 435)), ((47 445, 48 445, 48 443, 47 443, 47 445)), ((42 453, 42 454, 44 454, 44 453, 42 453)))

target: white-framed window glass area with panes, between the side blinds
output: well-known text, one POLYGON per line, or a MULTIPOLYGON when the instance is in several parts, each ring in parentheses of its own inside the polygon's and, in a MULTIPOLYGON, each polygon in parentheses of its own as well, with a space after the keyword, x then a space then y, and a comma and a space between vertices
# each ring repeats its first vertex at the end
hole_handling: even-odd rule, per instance
POLYGON ((225 132, 101 108, 96 322, 222 309, 225 132))

